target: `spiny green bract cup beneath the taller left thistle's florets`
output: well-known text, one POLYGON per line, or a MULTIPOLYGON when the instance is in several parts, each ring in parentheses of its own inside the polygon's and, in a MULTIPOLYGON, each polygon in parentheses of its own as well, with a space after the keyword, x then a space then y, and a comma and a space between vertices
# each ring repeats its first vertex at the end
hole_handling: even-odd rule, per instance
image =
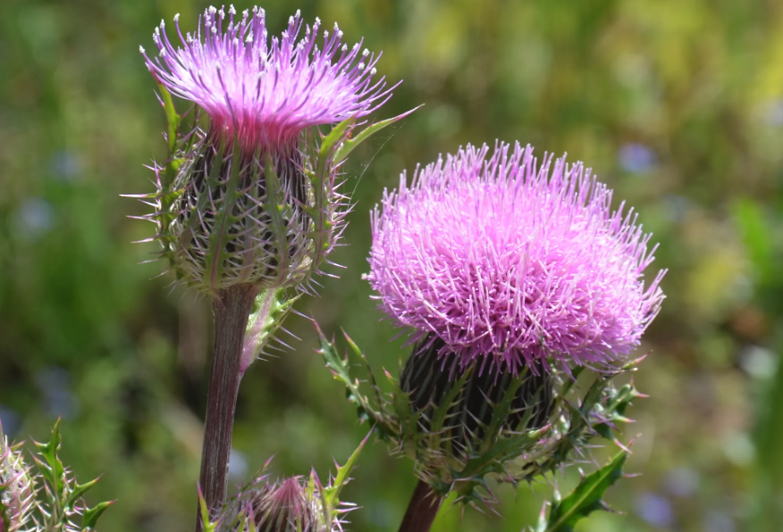
MULTIPOLYGON (((159 86, 168 121, 168 158, 154 165, 156 192, 138 195, 154 212, 161 256, 177 280, 210 295, 239 284, 295 287, 309 278, 341 236, 349 198, 339 192, 341 162, 360 142, 408 113, 360 131, 350 118, 328 134, 317 127, 273 149, 248 152, 239 137, 190 128, 159 86), (351 138, 353 137, 353 138, 351 138)), ((207 120, 208 122, 208 120, 207 120)))

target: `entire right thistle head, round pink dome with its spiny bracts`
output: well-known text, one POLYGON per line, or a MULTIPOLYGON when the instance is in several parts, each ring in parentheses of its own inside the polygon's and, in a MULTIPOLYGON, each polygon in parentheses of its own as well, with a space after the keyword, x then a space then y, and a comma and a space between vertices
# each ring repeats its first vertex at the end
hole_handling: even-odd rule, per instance
POLYGON ((399 382, 387 373, 392 395, 375 387, 373 400, 323 335, 321 352, 361 418, 429 486, 409 519, 434 519, 415 503, 428 490, 492 503, 487 478, 530 481, 593 436, 617 441, 610 424, 640 395, 610 380, 633 370, 619 362, 658 312, 664 272, 645 287, 650 235, 610 202, 581 163, 539 165, 518 144, 492 155, 468 145, 384 192, 366 278, 383 312, 412 330, 413 353, 399 382), (585 368, 597 377, 573 401, 585 368))

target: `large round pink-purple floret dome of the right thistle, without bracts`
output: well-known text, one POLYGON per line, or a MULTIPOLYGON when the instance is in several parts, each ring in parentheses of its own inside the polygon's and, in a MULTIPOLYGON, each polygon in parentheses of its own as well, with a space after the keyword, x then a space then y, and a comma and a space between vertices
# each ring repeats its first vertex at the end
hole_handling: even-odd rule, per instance
MULTIPOLYGON (((462 367, 607 369, 661 306, 646 287, 651 235, 581 162, 533 148, 467 146, 417 168, 372 215, 366 278, 411 341, 442 341, 462 367)), ((419 349, 418 351, 423 351, 419 349)))

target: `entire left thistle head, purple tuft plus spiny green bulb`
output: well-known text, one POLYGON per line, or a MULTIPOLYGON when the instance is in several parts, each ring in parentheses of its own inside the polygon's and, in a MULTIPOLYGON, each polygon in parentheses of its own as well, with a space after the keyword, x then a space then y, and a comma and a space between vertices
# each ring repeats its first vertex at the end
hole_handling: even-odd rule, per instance
POLYGON ((142 196, 163 254, 178 278, 212 295, 238 284, 302 287, 341 234, 341 146, 392 96, 375 79, 380 54, 349 48, 337 24, 322 31, 299 12, 271 40, 258 7, 241 16, 210 7, 184 35, 179 15, 174 22, 179 43, 162 21, 158 54, 141 48, 170 122, 170 159, 154 168, 156 194, 142 196), (206 127, 197 120, 178 135, 169 93, 206 112, 206 127), (329 137, 314 129, 337 123, 329 137))

